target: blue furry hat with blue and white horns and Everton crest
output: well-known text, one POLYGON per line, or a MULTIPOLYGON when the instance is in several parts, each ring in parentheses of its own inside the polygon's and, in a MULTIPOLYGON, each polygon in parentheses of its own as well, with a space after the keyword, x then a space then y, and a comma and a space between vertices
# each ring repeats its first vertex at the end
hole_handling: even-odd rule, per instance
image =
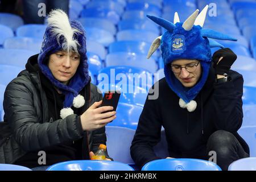
POLYGON ((193 99, 207 81, 212 61, 210 48, 223 48, 221 44, 212 39, 237 40, 214 30, 203 29, 202 27, 207 15, 207 10, 208 5, 204 7, 200 14, 199 10, 196 10, 184 23, 180 22, 177 13, 174 15, 174 23, 163 18, 147 15, 153 22, 167 30, 151 44, 147 58, 160 46, 164 61, 164 75, 166 76, 166 81, 170 88, 180 97, 180 106, 187 108, 188 111, 196 109, 196 102, 193 101, 193 99), (169 65, 172 61, 177 59, 200 60, 203 74, 200 81, 192 88, 184 88, 171 71, 169 65))

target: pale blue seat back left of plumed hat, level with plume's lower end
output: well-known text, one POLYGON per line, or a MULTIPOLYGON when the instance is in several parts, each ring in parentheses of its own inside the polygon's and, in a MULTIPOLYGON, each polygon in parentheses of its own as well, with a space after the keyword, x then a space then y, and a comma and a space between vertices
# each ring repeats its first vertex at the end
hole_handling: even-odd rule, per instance
POLYGON ((8 38, 3 43, 6 49, 27 49, 28 51, 40 52, 42 47, 42 39, 15 36, 8 38))

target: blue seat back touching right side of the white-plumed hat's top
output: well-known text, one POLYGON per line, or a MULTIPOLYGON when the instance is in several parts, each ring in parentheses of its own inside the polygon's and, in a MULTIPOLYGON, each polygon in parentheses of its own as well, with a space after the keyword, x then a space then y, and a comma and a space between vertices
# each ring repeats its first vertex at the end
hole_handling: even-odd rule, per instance
POLYGON ((117 32, 114 23, 110 22, 110 20, 107 19, 101 19, 101 18, 79 18, 77 19, 79 22, 81 22, 82 26, 85 28, 88 27, 94 27, 94 28, 100 28, 106 31, 111 32, 111 34, 115 35, 117 32))

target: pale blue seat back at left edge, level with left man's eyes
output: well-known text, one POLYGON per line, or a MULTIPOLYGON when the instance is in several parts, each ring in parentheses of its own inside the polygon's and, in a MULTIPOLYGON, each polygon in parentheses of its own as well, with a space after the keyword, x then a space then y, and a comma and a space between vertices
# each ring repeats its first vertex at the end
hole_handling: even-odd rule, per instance
POLYGON ((28 58, 37 53, 25 49, 0 49, 0 64, 25 68, 28 58))

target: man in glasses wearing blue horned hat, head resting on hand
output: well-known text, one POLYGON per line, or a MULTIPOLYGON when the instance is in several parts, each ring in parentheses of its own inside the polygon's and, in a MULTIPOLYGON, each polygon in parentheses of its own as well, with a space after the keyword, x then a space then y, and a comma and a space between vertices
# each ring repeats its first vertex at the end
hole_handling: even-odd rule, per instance
POLYGON ((237 133, 243 117, 243 78, 230 70, 237 56, 229 48, 210 53, 211 47, 223 48, 212 39, 236 39, 202 28, 207 9, 199 15, 196 10, 184 23, 177 13, 174 23, 148 15, 167 30, 148 52, 150 57, 160 46, 165 78, 154 85, 158 98, 150 100, 148 94, 131 144, 138 166, 159 159, 153 147, 162 126, 166 157, 209 160, 209 152, 215 151, 217 164, 226 170, 234 160, 249 156, 249 147, 237 133))

